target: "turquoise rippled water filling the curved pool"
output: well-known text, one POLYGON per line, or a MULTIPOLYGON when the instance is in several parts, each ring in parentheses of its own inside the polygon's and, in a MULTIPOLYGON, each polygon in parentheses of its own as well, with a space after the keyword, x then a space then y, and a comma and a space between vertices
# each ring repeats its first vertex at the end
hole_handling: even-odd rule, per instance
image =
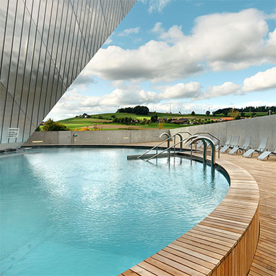
POLYGON ((50 148, 0 158, 1 275, 117 275, 204 219, 228 181, 144 150, 50 148))

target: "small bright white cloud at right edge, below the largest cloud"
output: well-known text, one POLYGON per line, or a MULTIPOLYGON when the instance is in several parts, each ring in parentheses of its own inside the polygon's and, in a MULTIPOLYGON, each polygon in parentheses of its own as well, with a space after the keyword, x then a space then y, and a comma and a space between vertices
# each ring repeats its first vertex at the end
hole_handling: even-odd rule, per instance
POLYGON ((276 67, 270 68, 264 72, 257 72, 256 75, 244 79, 242 91, 259 91, 270 88, 276 88, 276 67))

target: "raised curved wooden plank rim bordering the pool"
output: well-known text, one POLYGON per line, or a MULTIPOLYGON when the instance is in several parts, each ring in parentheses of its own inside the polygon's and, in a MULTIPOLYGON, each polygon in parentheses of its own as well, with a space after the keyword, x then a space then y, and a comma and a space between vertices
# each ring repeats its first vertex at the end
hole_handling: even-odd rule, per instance
POLYGON ((121 275, 247 275, 259 239, 259 187, 247 170, 219 160, 226 197, 187 233, 121 275))

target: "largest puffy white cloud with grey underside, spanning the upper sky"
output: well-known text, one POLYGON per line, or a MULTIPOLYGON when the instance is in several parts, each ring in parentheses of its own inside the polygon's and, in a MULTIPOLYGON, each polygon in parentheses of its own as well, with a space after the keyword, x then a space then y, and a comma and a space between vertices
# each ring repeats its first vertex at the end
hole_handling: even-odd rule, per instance
POLYGON ((198 17, 190 34, 181 26, 152 28, 159 41, 135 50, 100 49, 88 70, 105 80, 175 81, 210 68, 241 70, 276 62, 276 30, 268 32, 265 14, 256 9, 198 17))

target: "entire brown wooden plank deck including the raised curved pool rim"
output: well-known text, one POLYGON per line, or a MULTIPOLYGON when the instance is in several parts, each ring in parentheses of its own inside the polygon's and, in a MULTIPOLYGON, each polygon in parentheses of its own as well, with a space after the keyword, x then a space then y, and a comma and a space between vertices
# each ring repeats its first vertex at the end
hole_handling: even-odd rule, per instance
POLYGON ((121 275, 276 275, 276 162, 222 154, 217 163, 231 179, 221 204, 121 275))

